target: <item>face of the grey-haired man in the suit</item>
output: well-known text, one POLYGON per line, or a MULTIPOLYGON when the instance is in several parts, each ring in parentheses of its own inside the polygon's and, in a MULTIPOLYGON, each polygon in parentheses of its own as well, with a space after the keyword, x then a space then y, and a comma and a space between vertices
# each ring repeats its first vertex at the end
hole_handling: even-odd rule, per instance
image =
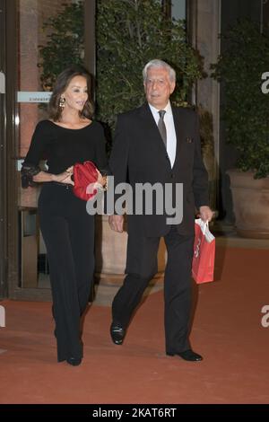
POLYGON ((164 67, 148 69, 146 80, 143 84, 147 101, 162 110, 169 101, 170 94, 175 89, 175 82, 169 79, 169 72, 164 67))

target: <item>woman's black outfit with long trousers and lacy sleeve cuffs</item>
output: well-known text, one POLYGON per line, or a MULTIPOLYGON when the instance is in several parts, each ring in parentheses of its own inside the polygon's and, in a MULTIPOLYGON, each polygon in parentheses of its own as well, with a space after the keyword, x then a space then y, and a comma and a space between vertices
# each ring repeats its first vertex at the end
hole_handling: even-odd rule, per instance
MULTIPOLYGON (((107 167, 105 136, 100 123, 81 129, 59 127, 42 120, 32 136, 22 164, 22 185, 31 185, 46 159, 48 172, 59 174, 74 163, 91 160, 107 167)), ((80 317, 89 301, 94 271, 94 216, 76 198, 71 185, 44 182, 39 196, 40 229, 48 251, 57 358, 82 357, 80 317)))

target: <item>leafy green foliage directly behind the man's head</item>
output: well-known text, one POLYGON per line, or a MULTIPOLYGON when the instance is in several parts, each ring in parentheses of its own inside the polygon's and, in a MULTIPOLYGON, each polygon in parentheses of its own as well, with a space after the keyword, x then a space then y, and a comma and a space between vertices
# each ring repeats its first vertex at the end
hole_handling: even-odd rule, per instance
POLYGON ((202 76, 201 60, 187 44, 185 22, 168 19, 159 0, 97 0, 97 116, 114 129, 117 114, 144 101, 143 66, 161 58, 177 72, 172 101, 202 76))

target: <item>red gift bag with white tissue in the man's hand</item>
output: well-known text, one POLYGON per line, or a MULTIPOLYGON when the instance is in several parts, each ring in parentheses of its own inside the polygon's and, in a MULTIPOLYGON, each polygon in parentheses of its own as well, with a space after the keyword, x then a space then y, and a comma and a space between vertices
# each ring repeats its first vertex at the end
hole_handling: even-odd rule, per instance
POLYGON ((215 238, 210 233, 208 222, 195 220, 195 245, 192 275, 197 284, 213 281, 215 260, 215 238))

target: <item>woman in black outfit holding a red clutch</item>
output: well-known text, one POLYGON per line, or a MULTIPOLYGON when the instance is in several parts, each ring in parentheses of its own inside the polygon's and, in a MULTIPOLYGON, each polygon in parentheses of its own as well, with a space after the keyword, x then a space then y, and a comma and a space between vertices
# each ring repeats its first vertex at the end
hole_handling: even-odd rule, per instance
MULTIPOLYGON (((80 322, 94 270, 94 216, 74 196, 73 166, 87 160, 98 169, 107 165, 104 132, 91 120, 92 111, 90 75, 68 67, 56 80, 49 119, 38 123, 22 165, 23 187, 43 183, 39 220, 48 251, 57 359, 70 365, 82 362, 80 322), (43 158, 48 171, 39 169, 43 158)), ((98 182, 105 185, 100 173, 98 182)))

